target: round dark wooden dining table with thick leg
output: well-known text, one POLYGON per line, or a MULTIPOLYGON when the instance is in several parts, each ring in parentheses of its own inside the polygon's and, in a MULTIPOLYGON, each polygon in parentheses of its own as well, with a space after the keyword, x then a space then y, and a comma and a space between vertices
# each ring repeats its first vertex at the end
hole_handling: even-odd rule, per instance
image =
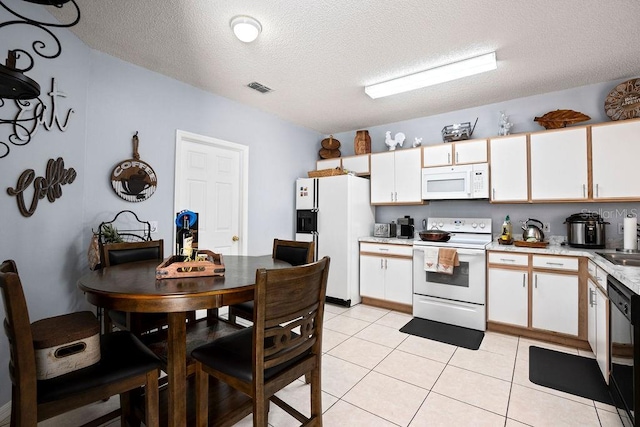
POLYGON ((290 267, 271 255, 224 255, 224 276, 156 279, 158 261, 106 267, 78 279, 87 301, 103 309, 167 313, 168 425, 187 423, 187 312, 253 299, 256 270, 290 267))

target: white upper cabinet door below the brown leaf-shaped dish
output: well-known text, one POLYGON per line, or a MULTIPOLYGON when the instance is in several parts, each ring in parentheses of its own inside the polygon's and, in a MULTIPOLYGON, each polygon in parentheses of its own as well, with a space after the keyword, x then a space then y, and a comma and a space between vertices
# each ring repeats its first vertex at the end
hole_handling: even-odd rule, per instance
POLYGON ((529 160, 532 201, 587 200, 587 127, 531 134, 529 160))

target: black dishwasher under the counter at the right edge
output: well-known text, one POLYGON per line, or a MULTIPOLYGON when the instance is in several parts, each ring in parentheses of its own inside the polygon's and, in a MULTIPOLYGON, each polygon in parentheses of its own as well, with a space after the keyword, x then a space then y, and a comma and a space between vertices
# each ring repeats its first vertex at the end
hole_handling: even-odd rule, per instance
POLYGON ((611 373, 609 389, 625 427, 638 426, 640 409, 640 295, 607 277, 611 373))

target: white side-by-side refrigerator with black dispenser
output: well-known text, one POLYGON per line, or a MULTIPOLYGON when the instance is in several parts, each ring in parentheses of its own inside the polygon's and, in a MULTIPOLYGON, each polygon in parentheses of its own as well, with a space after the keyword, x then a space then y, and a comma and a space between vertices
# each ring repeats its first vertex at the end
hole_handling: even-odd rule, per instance
POLYGON ((296 180, 296 240, 313 241, 316 260, 331 257, 327 301, 360 303, 360 246, 371 236, 375 208, 369 180, 352 175, 296 180))

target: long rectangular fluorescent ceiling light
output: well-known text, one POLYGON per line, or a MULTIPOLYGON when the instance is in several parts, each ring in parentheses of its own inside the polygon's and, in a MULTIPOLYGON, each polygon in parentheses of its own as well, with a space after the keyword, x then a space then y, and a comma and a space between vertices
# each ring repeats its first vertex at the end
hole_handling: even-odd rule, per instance
POLYGON ((484 73, 485 71, 495 70, 496 68, 496 53, 491 52, 431 68, 416 74, 365 86, 364 91, 373 99, 382 98, 383 96, 395 95, 397 93, 408 92, 410 90, 484 73))

